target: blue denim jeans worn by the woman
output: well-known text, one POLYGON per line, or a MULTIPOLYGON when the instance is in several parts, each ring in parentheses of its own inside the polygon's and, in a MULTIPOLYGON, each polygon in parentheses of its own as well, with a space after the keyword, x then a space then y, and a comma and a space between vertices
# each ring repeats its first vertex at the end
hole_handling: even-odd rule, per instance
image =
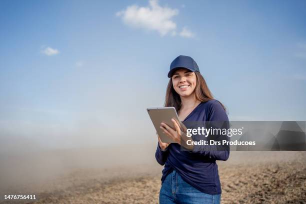
POLYGON ((186 183, 175 170, 166 176, 159 191, 159 204, 218 204, 220 198, 221 194, 207 194, 186 183))

